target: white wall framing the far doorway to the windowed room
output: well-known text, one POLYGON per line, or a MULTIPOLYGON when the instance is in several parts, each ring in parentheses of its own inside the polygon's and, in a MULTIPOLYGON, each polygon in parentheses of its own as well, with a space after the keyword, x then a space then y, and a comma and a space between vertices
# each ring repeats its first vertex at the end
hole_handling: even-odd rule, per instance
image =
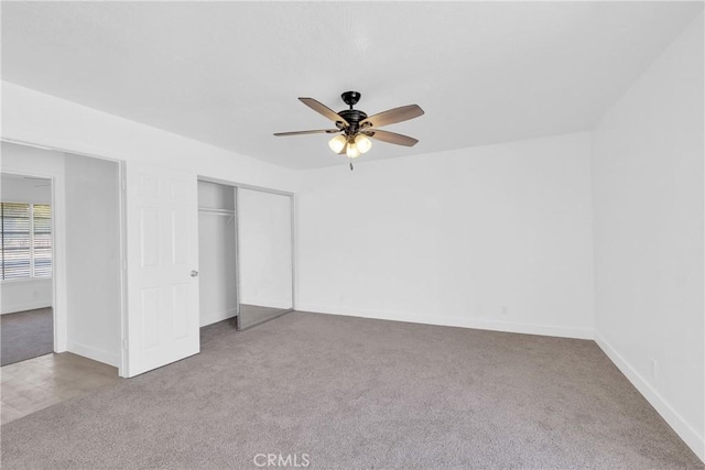
MULTIPOLYGON (((3 97, 4 99, 4 97, 3 97)), ((2 108, 4 114, 4 101, 2 108)), ((3 116, 3 128, 7 118, 3 116)), ((54 206, 52 217, 54 223, 54 328, 56 352, 66 351, 66 288, 65 288, 65 226, 64 226, 64 156, 61 152, 43 149, 30 147, 25 145, 14 145, 2 142, 0 145, 2 155, 0 157, 0 170, 3 173, 14 173, 28 176, 40 176, 52 179, 52 190, 54 193, 54 206)), ((50 281, 51 283, 52 281, 50 281)), ((28 287, 32 292, 32 287, 28 287)), ((26 293, 26 292, 24 292, 26 293)), ((4 304, 4 292, 2 303, 4 304)), ((39 294, 37 294, 39 295, 39 294)))

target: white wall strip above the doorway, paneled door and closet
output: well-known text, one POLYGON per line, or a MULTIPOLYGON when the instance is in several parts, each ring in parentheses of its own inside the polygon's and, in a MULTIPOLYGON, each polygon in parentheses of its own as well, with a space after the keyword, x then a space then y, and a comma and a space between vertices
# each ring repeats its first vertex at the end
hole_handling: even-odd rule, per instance
POLYGON ((2 81, 2 138, 293 190, 296 172, 2 81))

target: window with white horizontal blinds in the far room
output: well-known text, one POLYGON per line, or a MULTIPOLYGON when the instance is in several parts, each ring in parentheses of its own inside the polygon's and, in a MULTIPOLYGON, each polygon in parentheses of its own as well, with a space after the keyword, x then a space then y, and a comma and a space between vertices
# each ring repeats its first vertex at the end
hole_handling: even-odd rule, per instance
POLYGON ((52 276, 52 207, 0 203, 2 280, 52 276))

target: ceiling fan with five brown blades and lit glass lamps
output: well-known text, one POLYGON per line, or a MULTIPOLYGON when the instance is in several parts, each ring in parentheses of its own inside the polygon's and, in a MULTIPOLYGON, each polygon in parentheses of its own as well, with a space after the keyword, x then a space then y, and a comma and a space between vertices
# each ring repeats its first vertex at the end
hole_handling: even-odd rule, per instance
MULTIPOLYGON (((313 98, 299 98, 299 100, 308 108, 335 122, 336 129, 276 132, 274 135, 338 134, 330 139, 328 146, 339 155, 347 155, 348 159, 357 159, 362 153, 369 151, 372 146, 370 138, 405 146, 413 146, 419 142, 416 139, 408 135, 378 129, 382 125, 389 125, 420 117, 423 114, 423 109, 417 105, 402 106, 401 108, 389 109, 368 117, 367 113, 352 108, 360 100, 360 96, 361 95, 358 91, 346 91, 340 95, 343 102, 348 105, 350 109, 344 109, 339 112, 335 112, 313 98)), ((352 162, 350 162, 350 170, 352 170, 352 162)))

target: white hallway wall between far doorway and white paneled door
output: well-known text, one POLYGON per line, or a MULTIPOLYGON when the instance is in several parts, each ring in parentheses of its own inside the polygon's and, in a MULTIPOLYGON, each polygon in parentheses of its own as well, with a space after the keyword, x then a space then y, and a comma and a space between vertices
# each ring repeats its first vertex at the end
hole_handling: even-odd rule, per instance
POLYGON ((68 350, 120 363, 120 187, 116 162, 64 154, 68 350))

